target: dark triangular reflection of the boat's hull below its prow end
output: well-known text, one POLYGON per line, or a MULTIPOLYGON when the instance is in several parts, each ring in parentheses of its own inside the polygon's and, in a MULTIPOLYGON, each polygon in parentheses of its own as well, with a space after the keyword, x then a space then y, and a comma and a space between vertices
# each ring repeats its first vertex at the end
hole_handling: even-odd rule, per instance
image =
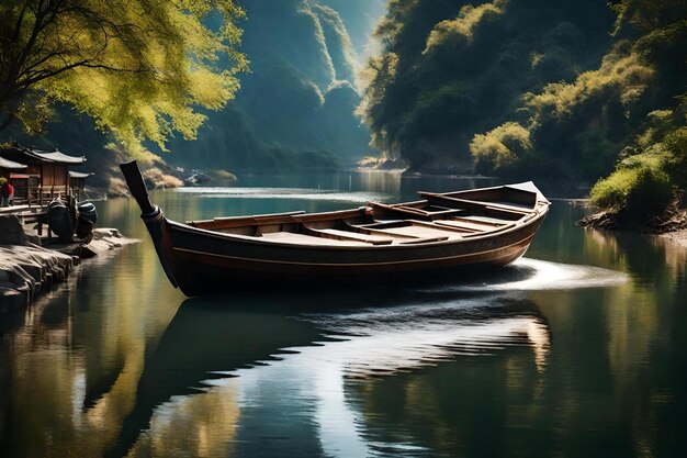
MULTIPOLYGON (((150 424, 155 409, 172 396, 203 392, 203 381, 232 377, 232 371, 279 359, 281 348, 309 345, 318 337, 311 326, 234 294, 226 300, 190 299, 179 308, 157 348, 146 358, 135 407, 124 420, 111 456, 121 456, 150 424), (224 302, 224 303, 223 303, 224 302)), ((222 404, 216 404, 222 405, 222 404)), ((235 407, 234 407, 235 409, 235 407)))

